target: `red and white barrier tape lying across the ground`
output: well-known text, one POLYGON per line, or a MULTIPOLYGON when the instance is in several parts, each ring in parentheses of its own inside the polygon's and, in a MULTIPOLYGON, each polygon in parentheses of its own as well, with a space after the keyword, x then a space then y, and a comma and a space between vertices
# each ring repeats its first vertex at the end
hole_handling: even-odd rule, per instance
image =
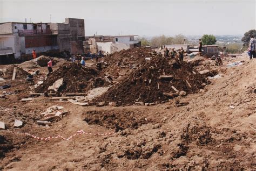
MULTIPOLYGON (((23 132, 16 132, 16 131, 13 131, 13 132, 15 132, 17 134, 23 133, 23 132)), ((24 134, 26 136, 30 136, 30 137, 38 139, 38 140, 50 140, 50 139, 55 139, 55 138, 62 138, 63 140, 70 140, 73 137, 78 136, 78 135, 82 135, 82 134, 89 134, 89 135, 92 135, 92 136, 109 136, 109 135, 114 134, 114 133, 115 132, 111 132, 111 133, 91 133, 91 132, 84 132, 83 130, 80 130, 80 131, 77 131, 76 134, 73 134, 72 136, 70 136, 69 138, 64 138, 63 136, 59 136, 59 135, 56 136, 56 137, 51 137, 50 136, 50 137, 46 137, 46 138, 40 138, 40 137, 34 136, 34 135, 32 135, 30 133, 27 133, 27 132, 25 132, 24 134)))

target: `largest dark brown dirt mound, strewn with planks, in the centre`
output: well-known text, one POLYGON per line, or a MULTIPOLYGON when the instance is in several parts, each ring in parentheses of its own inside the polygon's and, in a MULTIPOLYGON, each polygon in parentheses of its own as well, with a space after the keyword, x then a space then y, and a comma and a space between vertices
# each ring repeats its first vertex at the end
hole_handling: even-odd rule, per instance
POLYGON ((194 93, 203 88, 207 79, 194 71, 186 62, 176 59, 152 58, 124 80, 112 87, 97 101, 133 104, 134 102, 163 102, 170 97, 164 93, 178 91, 194 93), (165 76, 169 76, 166 77, 165 76), (176 90, 177 91, 176 91, 176 90))

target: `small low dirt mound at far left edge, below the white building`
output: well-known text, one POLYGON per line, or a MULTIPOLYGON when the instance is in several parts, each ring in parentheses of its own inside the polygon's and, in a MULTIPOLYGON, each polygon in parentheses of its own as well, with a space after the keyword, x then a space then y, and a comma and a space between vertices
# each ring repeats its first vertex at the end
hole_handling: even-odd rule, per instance
POLYGON ((28 72, 26 72, 22 68, 19 68, 16 65, 9 65, 3 69, 3 79, 11 79, 12 75, 14 74, 15 67, 16 67, 16 77, 15 77, 16 79, 22 79, 30 75, 28 72))

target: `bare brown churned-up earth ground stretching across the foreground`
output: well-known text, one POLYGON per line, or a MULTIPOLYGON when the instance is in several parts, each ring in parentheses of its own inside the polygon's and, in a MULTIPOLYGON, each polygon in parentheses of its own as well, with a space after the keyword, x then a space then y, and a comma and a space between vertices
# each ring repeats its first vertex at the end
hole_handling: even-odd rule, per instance
MULTIPOLYGON (((12 80, 0 94, 15 93, 0 98, 0 106, 21 112, 1 113, 8 129, 0 130, 0 170, 256 169, 256 60, 230 61, 239 60, 245 62, 217 67, 221 77, 203 90, 151 106, 79 106, 45 96, 21 102, 31 97, 32 85, 12 80), (49 126, 38 125, 40 113, 53 105, 69 113, 49 126), (24 126, 14 129, 15 119, 24 126), (79 130, 92 134, 69 140, 24 134, 68 138, 79 130)), ((36 78, 46 75, 47 67, 37 69, 36 78)))

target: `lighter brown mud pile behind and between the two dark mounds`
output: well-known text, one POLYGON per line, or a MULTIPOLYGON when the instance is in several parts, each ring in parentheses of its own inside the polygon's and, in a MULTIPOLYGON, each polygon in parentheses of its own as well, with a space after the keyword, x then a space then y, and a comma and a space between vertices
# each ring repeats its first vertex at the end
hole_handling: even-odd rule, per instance
POLYGON ((106 68, 104 72, 112 76, 130 73, 131 69, 137 69, 145 62, 145 58, 150 58, 151 49, 146 47, 137 47, 120 52, 115 52, 104 57, 106 68))

